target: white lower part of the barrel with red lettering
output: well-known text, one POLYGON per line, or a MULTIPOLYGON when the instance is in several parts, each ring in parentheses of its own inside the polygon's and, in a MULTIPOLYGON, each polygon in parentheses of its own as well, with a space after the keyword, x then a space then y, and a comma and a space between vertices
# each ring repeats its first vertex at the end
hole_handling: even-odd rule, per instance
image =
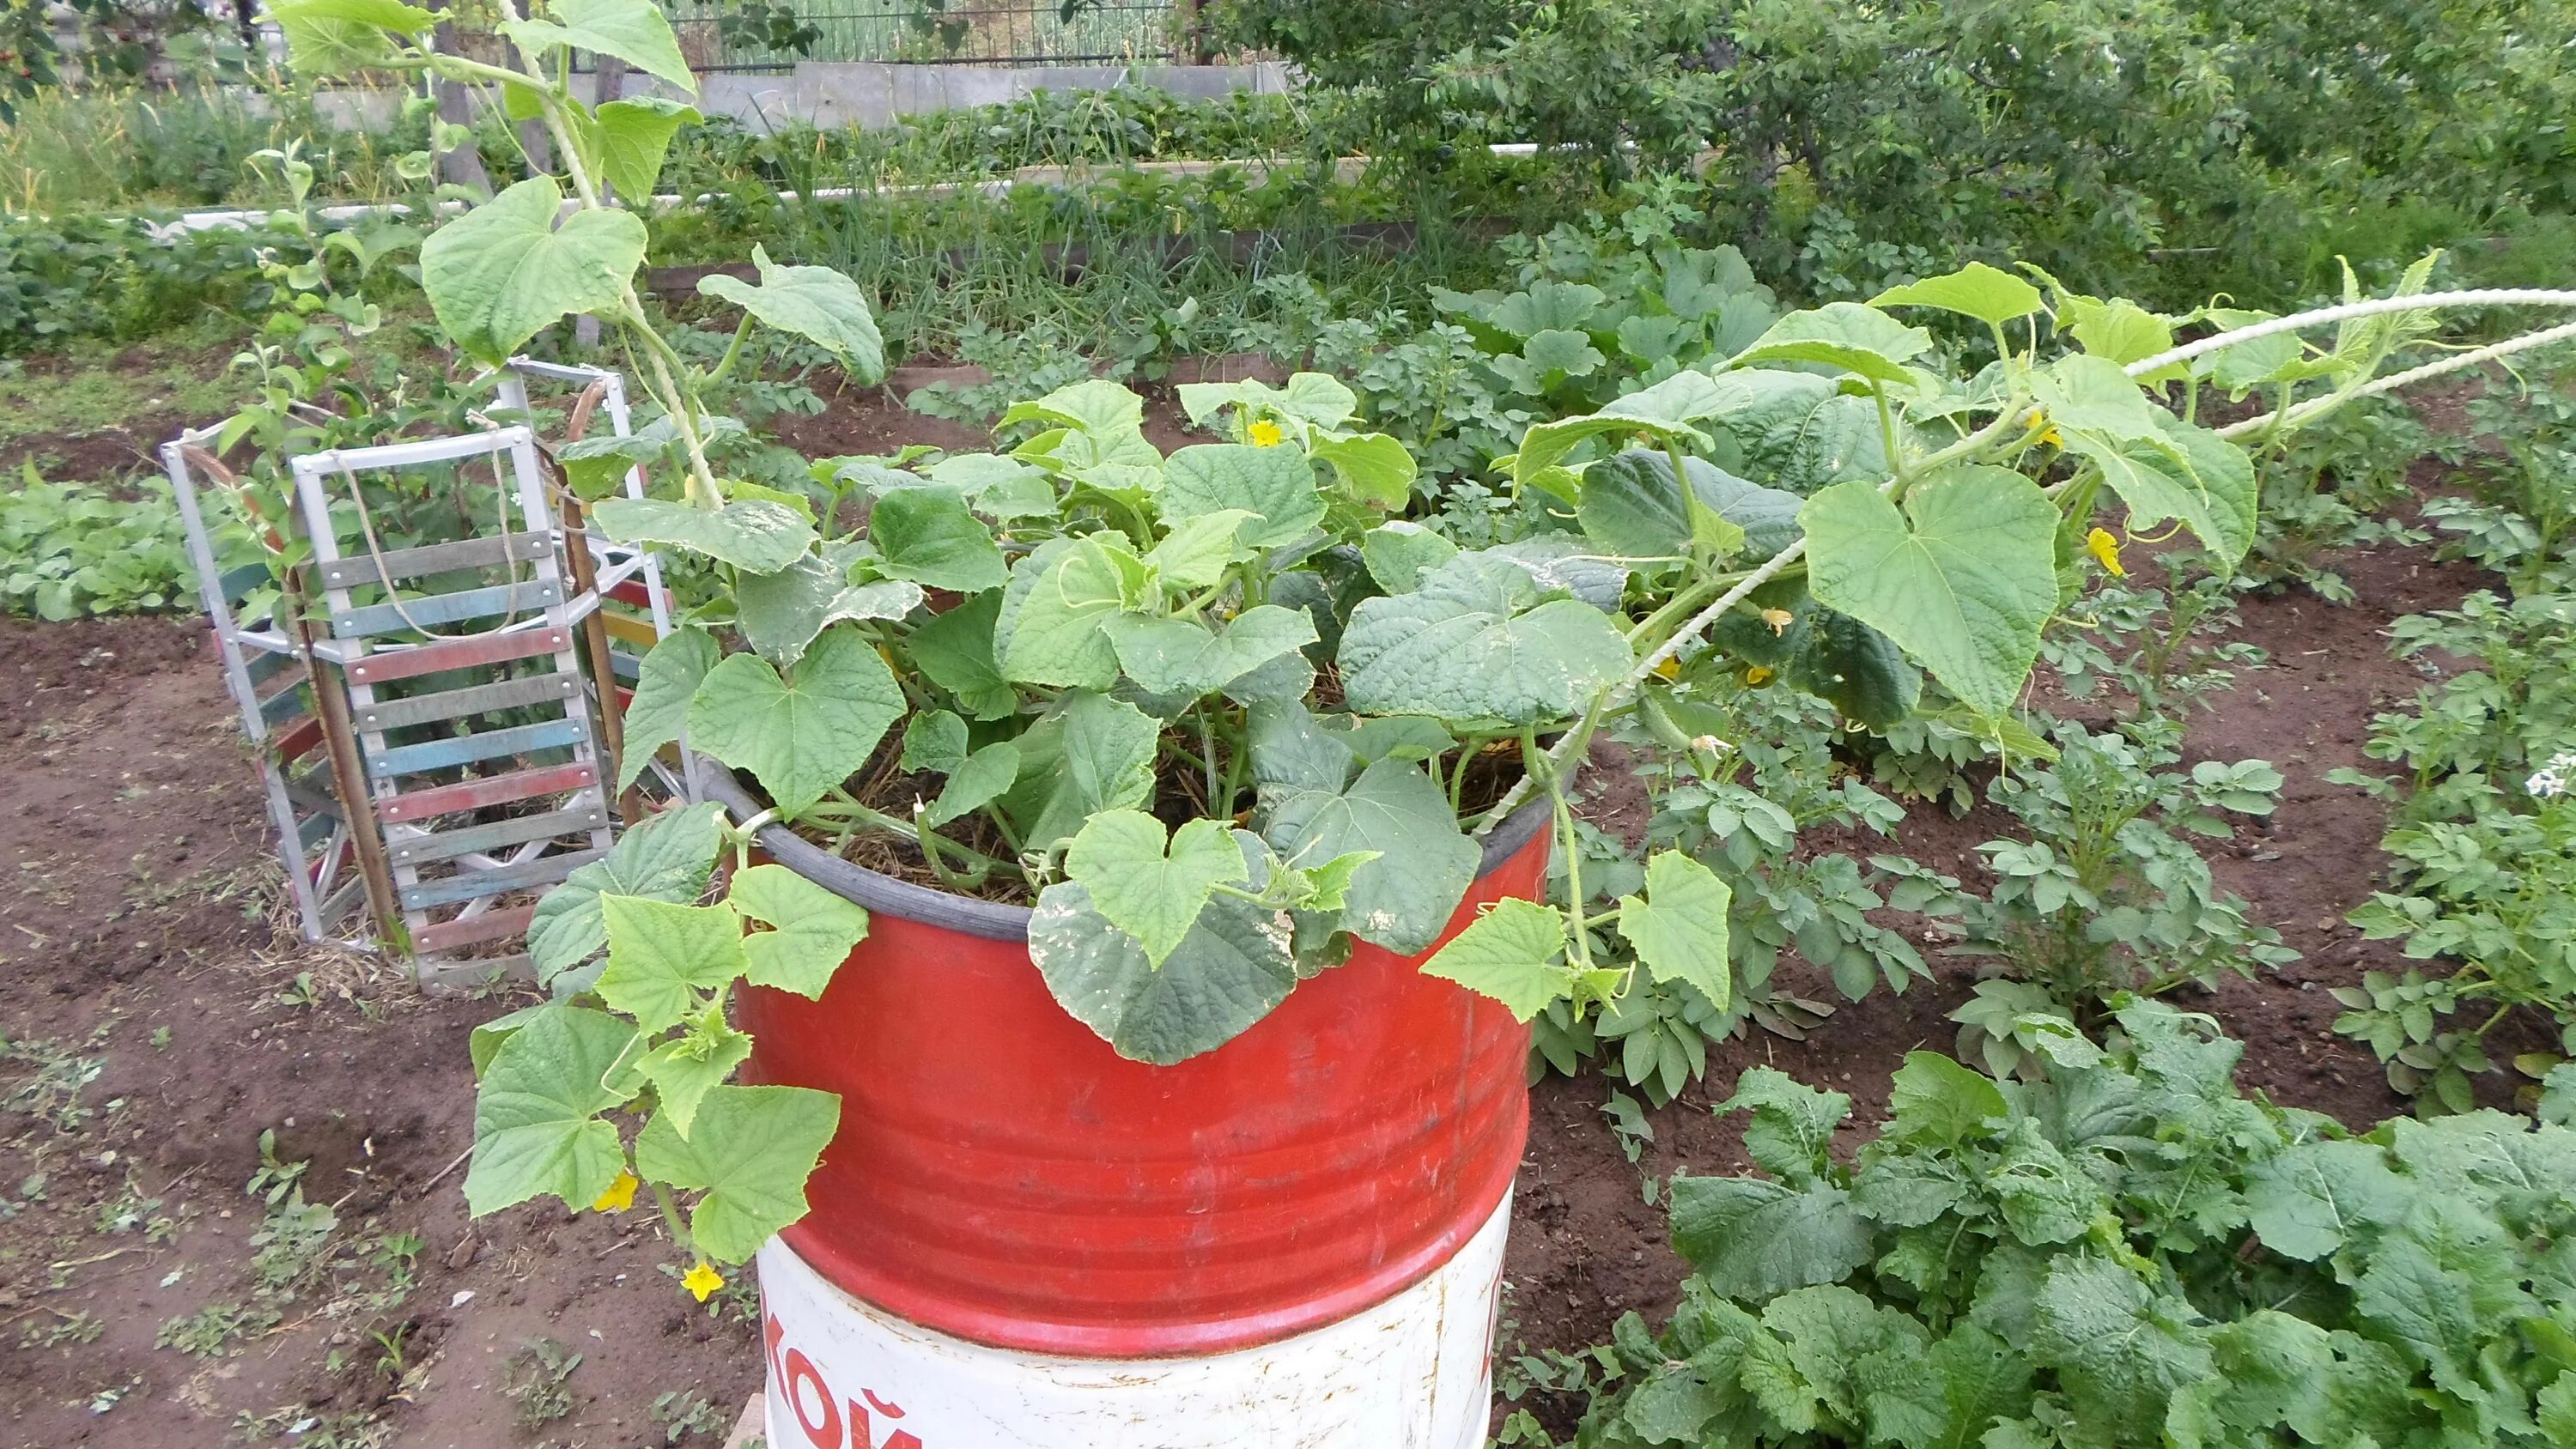
POLYGON ((1504 1197, 1455 1259, 1340 1323, 1203 1359, 987 1349, 760 1251, 770 1449, 1481 1449, 1504 1197))

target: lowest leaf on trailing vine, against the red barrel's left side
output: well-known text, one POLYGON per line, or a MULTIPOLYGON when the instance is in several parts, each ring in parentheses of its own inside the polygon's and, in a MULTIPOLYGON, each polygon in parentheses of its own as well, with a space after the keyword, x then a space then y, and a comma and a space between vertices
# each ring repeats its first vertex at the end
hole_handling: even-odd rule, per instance
POLYGON ((636 1135, 636 1171, 701 1192, 688 1235, 719 1264, 757 1253, 806 1215, 804 1184, 840 1130, 840 1096, 806 1086, 714 1086, 690 1132, 654 1114, 636 1135))

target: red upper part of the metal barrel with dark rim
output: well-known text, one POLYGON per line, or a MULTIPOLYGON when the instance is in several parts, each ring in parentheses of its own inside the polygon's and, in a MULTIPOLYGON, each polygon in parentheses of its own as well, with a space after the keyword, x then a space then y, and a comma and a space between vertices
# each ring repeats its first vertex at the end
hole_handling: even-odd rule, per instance
MULTIPOLYGON (((1540 818, 1494 831, 1450 934, 1538 893, 1540 818)), ((747 1078, 842 1096, 814 1210, 783 1238, 853 1297, 999 1349, 1216 1354, 1406 1289, 1512 1184, 1528 1027, 1419 957, 1363 945, 1242 1037, 1157 1068, 1048 996, 1028 911, 786 831, 762 847, 871 909, 822 1001, 742 999, 747 1078)))

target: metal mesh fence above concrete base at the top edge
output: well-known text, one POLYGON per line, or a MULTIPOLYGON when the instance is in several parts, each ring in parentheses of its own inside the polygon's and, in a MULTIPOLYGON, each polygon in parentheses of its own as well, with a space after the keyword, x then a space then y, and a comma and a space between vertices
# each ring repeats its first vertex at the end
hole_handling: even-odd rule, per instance
POLYGON ((799 59, 912 64, 1128 64, 1188 59, 1190 0, 680 0, 680 49, 698 72, 788 69, 799 59), (773 36, 809 28, 801 51, 773 36))

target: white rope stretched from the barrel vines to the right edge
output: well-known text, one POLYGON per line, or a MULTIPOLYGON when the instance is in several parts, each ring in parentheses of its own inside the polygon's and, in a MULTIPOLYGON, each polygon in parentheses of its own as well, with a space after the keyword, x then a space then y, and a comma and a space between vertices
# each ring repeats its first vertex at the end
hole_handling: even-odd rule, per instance
MULTIPOLYGON (((2184 342, 2182 347, 2172 347, 2172 350, 2156 353, 2154 358, 2141 358, 2136 363, 2128 363, 2123 371, 2128 376, 2133 376, 2133 378, 2143 378, 2148 373, 2172 368, 2174 363, 2187 363, 2187 360, 2200 358, 2205 353, 2215 353, 2221 347, 2233 347, 2239 342, 2257 342, 2262 337, 2275 337, 2280 332, 2300 332, 2300 329, 2308 329, 2308 327, 2326 327, 2331 322, 2354 322, 2360 317, 2383 317, 2383 314, 2391 314, 2391 311, 2442 311, 2442 309, 2455 309, 2455 306, 2566 306, 2566 309, 2576 309, 2576 291, 2566 291, 2566 288, 2535 288, 2535 286, 2488 286, 2488 288, 2463 288, 2463 291, 2421 291, 2421 293, 2414 293, 2414 296, 2372 296, 2367 301, 2344 301, 2344 304, 2336 304, 2336 306, 2318 306, 2313 311, 2293 311, 2287 317, 2272 317, 2272 319, 2264 319, 2264 322, 2254 322, 2254 324, 2239 327, 2233 332, 2218 332, 2213 337, 2200 337, 2195 342, 2184 342)), ((2491 342, 2486 347, 2473 347, 2468 353, 2458 353, 2452 358, 2424 363, 2421 368, 2409 368, 2403 373, 2388 373, 2385 378, 2372 378, 2370 383, 2362 383, 2362 386, 2357 386, 2352 391, 2344 391, 2344 394, 2329 394, 2329 396, 2308 399, 2308 401, 2303 401, 2303 404, 2298 404, 2290 412, 2277 414, 2277 417, 2275 414, 2249 417, 2244 422, 2233 422, 2228 427, 2221 427, 2218 435, 2221 438, 2241 438, 2244 432, 2251 432, 2257 427, 2267 427, 2267 425, 2275 425, 2275 422, 2282 422, 2282 425, 2306 422, 2308 417, 2316 417, 2318 412, 2324 412, 2329 407, 2342 407, 2342 404, 2347 404, 2352 399, 2378 396, 2378 394, 2385 394, 2385 391, 2393 391, 2393 389, 2401 389, 2401 386, 2419 383, 2424 378, 2434 378, 2434 376, 2442 376, 2442 373, 2455 373, 2455 371, 2463 371, 2463 368, 2476 368, 2481 363, 2494 363, 2496 358, 2509 358, 2514 353, 2527 353, 2532 347, 2545 347, 2550 342, 2563 342, 2563 340, 2576 340, 2576 322, 2568 322, 2568 324, 2561 324, 2561 327, 2545 327, 2540 332, 2524 332, 2522 337, 2509 337, 2504 342, 2491 342)), ((1886 492, 1891 484, 1896 484, 1896 479, 1888 479, 1888 481, 1878 484, 1878 489, 1886 492)), ((1690 481, 1682 479, 1682 486, 1690 486, 1690 481)), ((1618 685, 1613 685, 1610 705, 1618 708, 1618 705, 1628 703, 1636 695, 1638 685, 1649 674, 1654 674, 1656 669, 1662 669, 1667 659, 1677 656, 1682 649, 1687 649, 1692 641, 1698 641, 1700 633, 1708 625, 1713 625, 1721 618, 1726 618, 1726 610, 1731 610, 1739 602, 1744 602, 1747 595, 1752 595, 1754 589, 1759 589, 1770 579, 1780 577, 1783 569, 1788 569, 1793 561, 1798 561, 1803 556, 1806 556, 1806 535, 1798 535, 1788 548, 1783 548, 1780 553, 1772 553, 1759 569, 1754 569, 1752 574, 1747 574, 1736 587, 1731 587, 1723 595, 1718 595, 1718 600, 1713 605, 1708 605, 1705 610, 1690 615, 1690 623, 1685 623, 1682 628, 1677 628, 1672 633, 1672 638, 1667 638, 1654 654, 1649 654, 1646 659, 1641 659, 1628 672, 1625 679, 1620 679, 1618 685)), ((1566 731, 1566 736, 1556 744, 1556 749, 1548 752, 1548 762, 1551 762, 1551 767, 1556 772, 1561 772, 1566 767, 1566 744, 1571 744, 1574 739, 1577 739, 1577 731, 1566 731)), ((1533 780, 1530 775, 1522 775, 1520 780, 1515 780, 1512 788, 1504 790, 1502 800, 1494 800, 1494 808, 1489 808, 1484 813, 1484 818, 1476 824, 1473 834, 1479 834, 1479 836, 1492 834, 1494 826, 1502 824, 1504 816, 1510 816, 1512 808, 1520 806, 1522 798, 1528 798, 1530 780, 1533 780)))

